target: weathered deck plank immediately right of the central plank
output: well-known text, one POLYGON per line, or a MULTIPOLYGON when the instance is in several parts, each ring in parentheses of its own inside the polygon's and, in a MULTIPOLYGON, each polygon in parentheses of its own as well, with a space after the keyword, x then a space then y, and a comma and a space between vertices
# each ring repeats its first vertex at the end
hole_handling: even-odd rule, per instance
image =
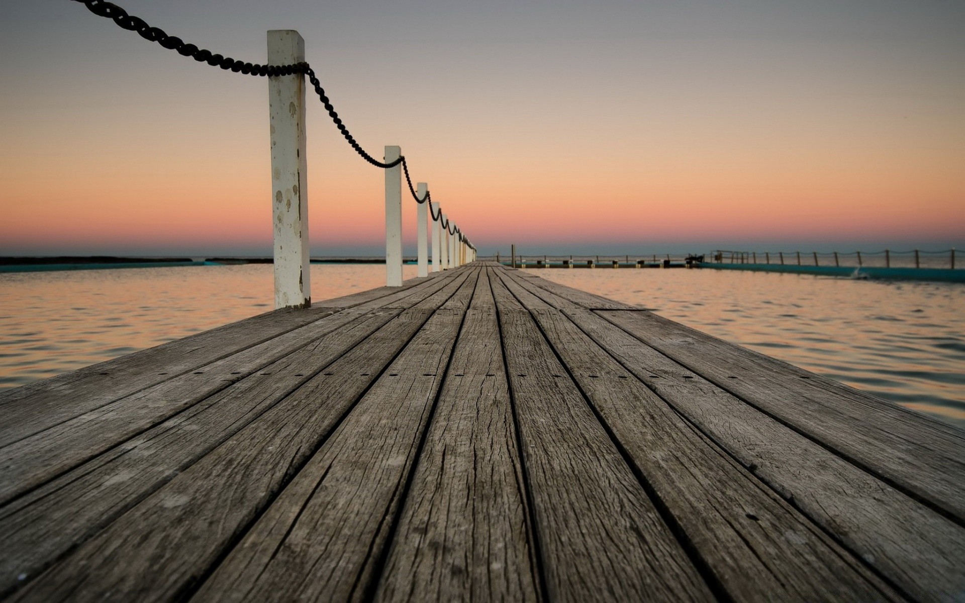
POLYGON ((492 287, 546 596, 712 599, 533 318, 501 283, 492 287))

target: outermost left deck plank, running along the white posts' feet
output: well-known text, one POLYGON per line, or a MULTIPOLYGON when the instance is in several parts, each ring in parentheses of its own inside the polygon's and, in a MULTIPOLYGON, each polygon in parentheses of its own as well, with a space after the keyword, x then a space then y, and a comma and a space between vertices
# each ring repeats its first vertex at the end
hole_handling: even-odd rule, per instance
MULTIPOLYGON (((399 303, 404 295, 431 288, 432 281, 434 279, 422 279, 406 290, 395 288, 390 295, 381 295, 385 292, 383 290, 378 294, 365 291, 344 301, 354 306, 381 297, 399 303)), ((0 424, 0 446, 180 374, 198 370, 333 311, 333 308, 324 306, 277 310, 2 392, 0 408, 3 409, 4 422, 0 424)))

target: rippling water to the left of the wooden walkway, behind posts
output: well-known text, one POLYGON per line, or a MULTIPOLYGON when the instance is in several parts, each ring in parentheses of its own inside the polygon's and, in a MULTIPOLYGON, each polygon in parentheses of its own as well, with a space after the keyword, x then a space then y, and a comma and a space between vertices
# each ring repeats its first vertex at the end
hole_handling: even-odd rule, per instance
MULTIPOLYGON (((0 389, 268 312, 272 279, 270 264, 0 274, 0 389)), ((382 285, 385 265, 312 264, 316 299, 382 285)))

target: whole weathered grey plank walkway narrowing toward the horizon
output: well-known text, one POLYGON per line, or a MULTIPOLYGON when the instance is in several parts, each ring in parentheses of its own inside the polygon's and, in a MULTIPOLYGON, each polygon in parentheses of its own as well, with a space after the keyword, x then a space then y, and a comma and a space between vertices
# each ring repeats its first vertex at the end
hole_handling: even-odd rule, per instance
POLYGON ((475 262, 0 396, 14 601, 962 600, 965 434, 475 262))

